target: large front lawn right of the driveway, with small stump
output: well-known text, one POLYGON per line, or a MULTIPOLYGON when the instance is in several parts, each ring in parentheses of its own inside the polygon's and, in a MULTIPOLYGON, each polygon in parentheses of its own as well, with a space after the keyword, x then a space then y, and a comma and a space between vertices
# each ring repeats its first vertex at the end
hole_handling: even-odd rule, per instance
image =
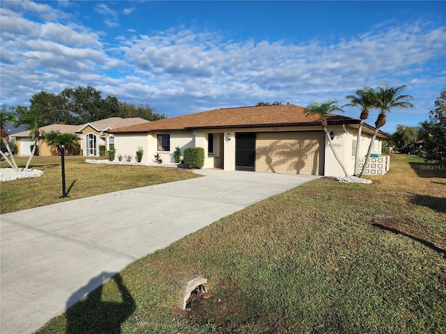
POLYGON ((319 179, 130 264, 38 333, 445 333, 445 173, 392 157, 319 179), (185 280, 207 298, 180 310, 185 280))

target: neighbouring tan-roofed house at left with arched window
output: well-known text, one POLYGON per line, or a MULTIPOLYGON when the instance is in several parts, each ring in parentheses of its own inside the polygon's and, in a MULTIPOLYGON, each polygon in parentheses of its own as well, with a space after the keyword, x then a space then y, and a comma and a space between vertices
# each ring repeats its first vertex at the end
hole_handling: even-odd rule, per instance
MULTIPOLYGON (((146 122, 148 122, 148 120, 144 120, 143 118, 112 117, 83 125, 52 124, 40 127, 40 136, 52 131, 59 131, 61 134, 77 134, 77 136, 79 136, 79 145, 81 145, 82 155, 86 157, 99 157, 100 145, 105 145, 107 150, 114 145, 112 136, 106 134, 105 131, 114 129, 115 127, 127 127, 129 125, 137 125, 146 122)), ((17 141, 17 154, 31 154, 31 145, 33 145, 33 141, 29 138, 29 133, 29 131, 24 131, 13 134, 12 137, 17 141)), ((39 140, 38 147, 40 156, 52 155, 51 148, 42 139, 39 140)))

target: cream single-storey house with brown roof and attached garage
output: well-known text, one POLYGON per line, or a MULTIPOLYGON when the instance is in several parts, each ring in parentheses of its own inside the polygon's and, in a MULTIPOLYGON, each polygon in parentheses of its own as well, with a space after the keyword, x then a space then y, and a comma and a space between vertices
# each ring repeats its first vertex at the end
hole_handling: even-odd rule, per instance
MULTIPOLYGON (((147 122, 107 131, 114 136, 116 157, 144 149, 144 163, 155 154, 162 161, 174 162, 178 146, 205 151, 204 168, 252 170, 303 175, 344 176, 325 137, 318 116, 305 116, 304 108, 293 104, 214 109, 201 113, 147 122)), ((328 132, 334 135, 334 149, 353 174, 357 127, 360 120, 330 114, 328 132)), ((364 125, 362 155, 374 127, 364 125)), ((375 153, 381 152, 379 132, 375 153)))

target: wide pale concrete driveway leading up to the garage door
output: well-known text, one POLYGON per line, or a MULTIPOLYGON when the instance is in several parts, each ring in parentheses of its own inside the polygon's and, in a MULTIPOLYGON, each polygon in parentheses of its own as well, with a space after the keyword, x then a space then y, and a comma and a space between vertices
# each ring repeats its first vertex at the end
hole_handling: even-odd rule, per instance
POLYGON ((317 178, 199 173, 1 215, 1 333, 33 333, 139 257, 317 178))

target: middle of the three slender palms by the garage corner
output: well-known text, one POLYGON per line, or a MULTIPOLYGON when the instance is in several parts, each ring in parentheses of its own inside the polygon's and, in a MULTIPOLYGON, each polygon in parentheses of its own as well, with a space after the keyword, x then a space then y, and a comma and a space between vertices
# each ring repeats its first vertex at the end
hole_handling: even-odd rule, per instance
MULTIPOLYGON (((358 161, 360 157, 361 148, 361 134, 362 125, 364 120, 369 118, 369 109, 374 108, 376 104, 376 91, 371 87, 364 87, 360 90, 356 90, 356 95, 347 95, 346 99, 350 100, 350 103, 344 104, 344 106, 359 106, 361 108, 360 115, 360 125, 357 128, 357 139, 356 139, 356 152, 355 152, 355 175, 358 173, 358 161)), ((344 107, 342 106, 342 107, 344 107)))

